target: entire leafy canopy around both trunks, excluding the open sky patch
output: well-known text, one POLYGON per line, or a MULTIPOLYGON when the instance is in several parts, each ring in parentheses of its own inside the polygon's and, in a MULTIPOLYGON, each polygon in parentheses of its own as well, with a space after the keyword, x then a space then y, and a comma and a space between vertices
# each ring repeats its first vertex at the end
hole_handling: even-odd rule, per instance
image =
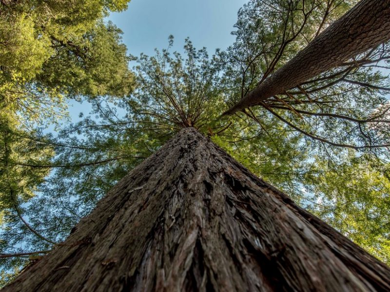
POLYGON ((153 56, 105 20, 125 0, 0 2, 2 285, 183 127, 390 263, 389 42, 222 115, 357 0, 250 0, 227 50, 170 36, 153 56))

